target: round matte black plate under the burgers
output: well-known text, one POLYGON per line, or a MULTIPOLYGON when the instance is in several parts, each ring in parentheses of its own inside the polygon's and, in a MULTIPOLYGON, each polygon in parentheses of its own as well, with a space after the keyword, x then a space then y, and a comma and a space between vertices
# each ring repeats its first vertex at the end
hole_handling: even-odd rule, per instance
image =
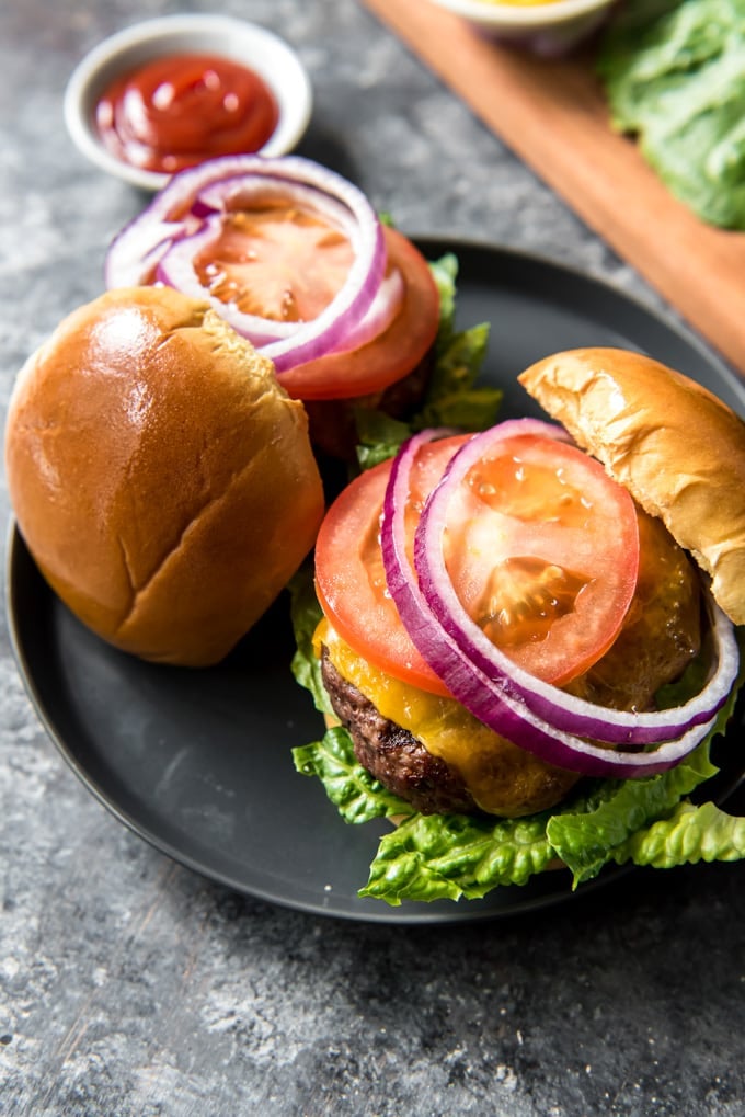
MULTIPOLYGON (((420 244, 432 259, 458 254, 460 324, 491 323, 485 376, 505 386, 505 418, 536 413, 515 381, 522 369, 581 345, 646 351, 745 412, 745 390, 722 364, 614 288, 500 248, 420 244)), ((346 827, 319 782, 295 772, 290 748, 322 725, 290 676, 285 598, 219 667, 153 667, 85 630, 13 532, 8 611, 21 674, 64 757, 126 825, 204 876, 305 911, 407 924, 494 918, 571 896, 555 872, 470 903, 389 908, 357 897, 385 823, 346 827)), ((724 775, 720 798, 742 770, 724 775)))

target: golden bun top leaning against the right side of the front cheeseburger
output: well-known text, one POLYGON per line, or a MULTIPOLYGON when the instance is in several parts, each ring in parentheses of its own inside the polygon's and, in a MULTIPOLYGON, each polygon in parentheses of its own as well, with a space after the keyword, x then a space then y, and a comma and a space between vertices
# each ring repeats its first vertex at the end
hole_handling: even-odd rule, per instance
POLYGON ((745 624, 745 423, 700 384, 648 356, 579 349, 538 361, 523 386, 711 579, 745 624))

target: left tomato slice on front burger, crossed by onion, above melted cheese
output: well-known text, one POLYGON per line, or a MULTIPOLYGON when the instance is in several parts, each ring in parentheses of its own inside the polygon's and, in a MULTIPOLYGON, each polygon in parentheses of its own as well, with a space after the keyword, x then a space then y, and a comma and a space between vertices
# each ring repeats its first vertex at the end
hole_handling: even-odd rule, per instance
MULTIPOLYGON (((417 457, 407 507, 412 548, 424 500, 466 438, 428 443, 417 457)), ((422 690, 449 696, 411 642, 388 592, 380 517, 390 472, 391 462, 382 461, 361 474, 326 513, 316 540, 316 593, 338 636, 371 663, 422 690)))

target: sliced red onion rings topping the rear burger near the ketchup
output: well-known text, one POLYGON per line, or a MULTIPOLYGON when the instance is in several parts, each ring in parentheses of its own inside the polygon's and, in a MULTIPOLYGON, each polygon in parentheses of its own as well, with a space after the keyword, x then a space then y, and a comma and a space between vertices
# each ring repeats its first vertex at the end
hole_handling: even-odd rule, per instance
MULTIPOLYGON (((280 378, 281 372, 296 364, 344 349, 355 330, 362 328, 364 336, 364 331, 372 328, 370 323, 366 326, 361 323, 375 302, 385 258, 382 226, 362 191, 346 179, 300 156, 229 155, 189 168, 170 180, 152 204, 112 244, 106 259, 106 284, 108 287, 147 284, 160 277, 161 281, 208 298, 218 314, 274 361, 280 378), (296 328, 280 328, 286 324, 267 319, 258 319, 259 326, 252 315, 247 316, 248 323, 243 322, 238 308, 229 308, 210 296, 199 284, 193 267, 188 266, 189 251, 198 250, 217 235, 217 218, 213 222, 211 211, 225 211, 236 203, 240 179, 248 183, 242 188, 248 191, 257 179, 270 188, 281 184, 285 193, 299 191, 298 199, 303 202, 316 198, 319 211, 343 228, 352 244, 354 259, 342 288, 316 318, 294 323, 296 328), (221 184, 226 194, 219 207, 221 184), (204 231, 206 226, 209 231, 204 231), (203 231, 207 239, 202 239, 203 231)), ((371 323, 381 315, 385 321, 382 312, 392 305, 390 292, 381 296, 371 323)))

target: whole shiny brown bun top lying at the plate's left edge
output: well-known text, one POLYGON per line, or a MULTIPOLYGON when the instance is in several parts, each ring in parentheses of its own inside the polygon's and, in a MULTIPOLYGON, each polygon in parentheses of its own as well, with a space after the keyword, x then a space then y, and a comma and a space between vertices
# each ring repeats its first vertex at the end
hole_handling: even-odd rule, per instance
POLYGON ((312 548, 323 490, 303 404, 206 304, 112 290, 21 370, 6 468, 40 571, 105 640, 206 666, 312 548))

